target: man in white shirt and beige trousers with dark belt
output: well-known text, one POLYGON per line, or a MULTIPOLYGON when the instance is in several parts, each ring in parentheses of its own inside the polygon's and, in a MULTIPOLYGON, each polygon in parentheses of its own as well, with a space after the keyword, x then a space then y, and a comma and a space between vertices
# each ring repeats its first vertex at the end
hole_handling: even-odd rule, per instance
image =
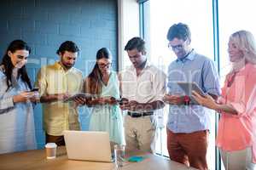
POLYGON ((128 99, 120 105, 122 110, 128 110, 125 116, 126 150, 154 152, 154 115, 164 107, 166 75, 148 62, 142 38, 131 38, 125 50, 132 63, 120 74, 122 97, 128 99))

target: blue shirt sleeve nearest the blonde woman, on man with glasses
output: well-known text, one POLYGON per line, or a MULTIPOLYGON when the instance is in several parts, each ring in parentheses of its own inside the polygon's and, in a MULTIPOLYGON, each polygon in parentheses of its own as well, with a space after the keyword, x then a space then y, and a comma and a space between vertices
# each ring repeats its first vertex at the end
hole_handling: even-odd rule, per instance
POLYGON ((215 94, 217 96, 220 95, 220 85, 218 79, 218 71, 212 62, 212 60, 207 60, 203 67, 203 86, 207 92, 207 94, 215 94))

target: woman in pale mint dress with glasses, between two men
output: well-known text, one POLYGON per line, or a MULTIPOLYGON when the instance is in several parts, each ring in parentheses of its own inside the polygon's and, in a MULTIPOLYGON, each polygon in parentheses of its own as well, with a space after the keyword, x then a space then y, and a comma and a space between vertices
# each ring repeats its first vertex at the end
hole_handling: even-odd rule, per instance
POLYGON ((108 48, 101 48, 96 54, 96 65, 85 79, 85 93, 97 97, 86 101, 93 106, 90 127, 91 131, 105 131, 113 144, 124 144, 123 118, 119 109, 119 79, 111 71, 112 55, 108 48))

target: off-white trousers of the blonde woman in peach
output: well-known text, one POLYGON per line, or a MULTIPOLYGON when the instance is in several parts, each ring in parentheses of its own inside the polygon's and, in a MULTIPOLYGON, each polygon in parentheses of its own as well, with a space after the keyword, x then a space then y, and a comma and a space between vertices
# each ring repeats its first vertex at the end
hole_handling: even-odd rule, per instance
POLYGON ((252 148, 247 147, 245 150, 225 151, 220 150, 225 170, 253 170, 252 148))

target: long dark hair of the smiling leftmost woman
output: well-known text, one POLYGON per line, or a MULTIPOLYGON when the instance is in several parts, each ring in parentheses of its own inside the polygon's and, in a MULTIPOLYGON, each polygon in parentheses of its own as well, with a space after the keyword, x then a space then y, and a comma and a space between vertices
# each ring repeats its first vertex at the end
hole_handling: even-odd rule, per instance
MULTIPOLYGON (((13 70, 15 68, 15 65, 13 65, 13 63, 12 63, 12 61, 11 61, 9 55, 8 55, 8 52, 10 51, 11 53, 15 53, 16 50, 22 50, 22 49, 27 50, 29 52, 29 54, 31 52, 31 48, 26 44, 26 42, 24 42, 22 40, 15 40, 15 41, 9 43, 9 46, 8 46, 5 54, 3 55, 1 65, 3 65, 3 67, 4 67, 3 73, 7 77, 6 78, 6 83, 7 83, 8 88, 6 89, 6 91, 8 91, 9 88, 13 86, 12 81, 11 81, 11 77, 12 77, 13 70)), ((30 81, 30 79, 27 75, 27 72, 26 72, 26 65, 23 65, 19 69, 18 77, 21 77, 21 80, 23 82, 26 82, 28 87, 30 89, 32 89, 31 81, 30 81)))

